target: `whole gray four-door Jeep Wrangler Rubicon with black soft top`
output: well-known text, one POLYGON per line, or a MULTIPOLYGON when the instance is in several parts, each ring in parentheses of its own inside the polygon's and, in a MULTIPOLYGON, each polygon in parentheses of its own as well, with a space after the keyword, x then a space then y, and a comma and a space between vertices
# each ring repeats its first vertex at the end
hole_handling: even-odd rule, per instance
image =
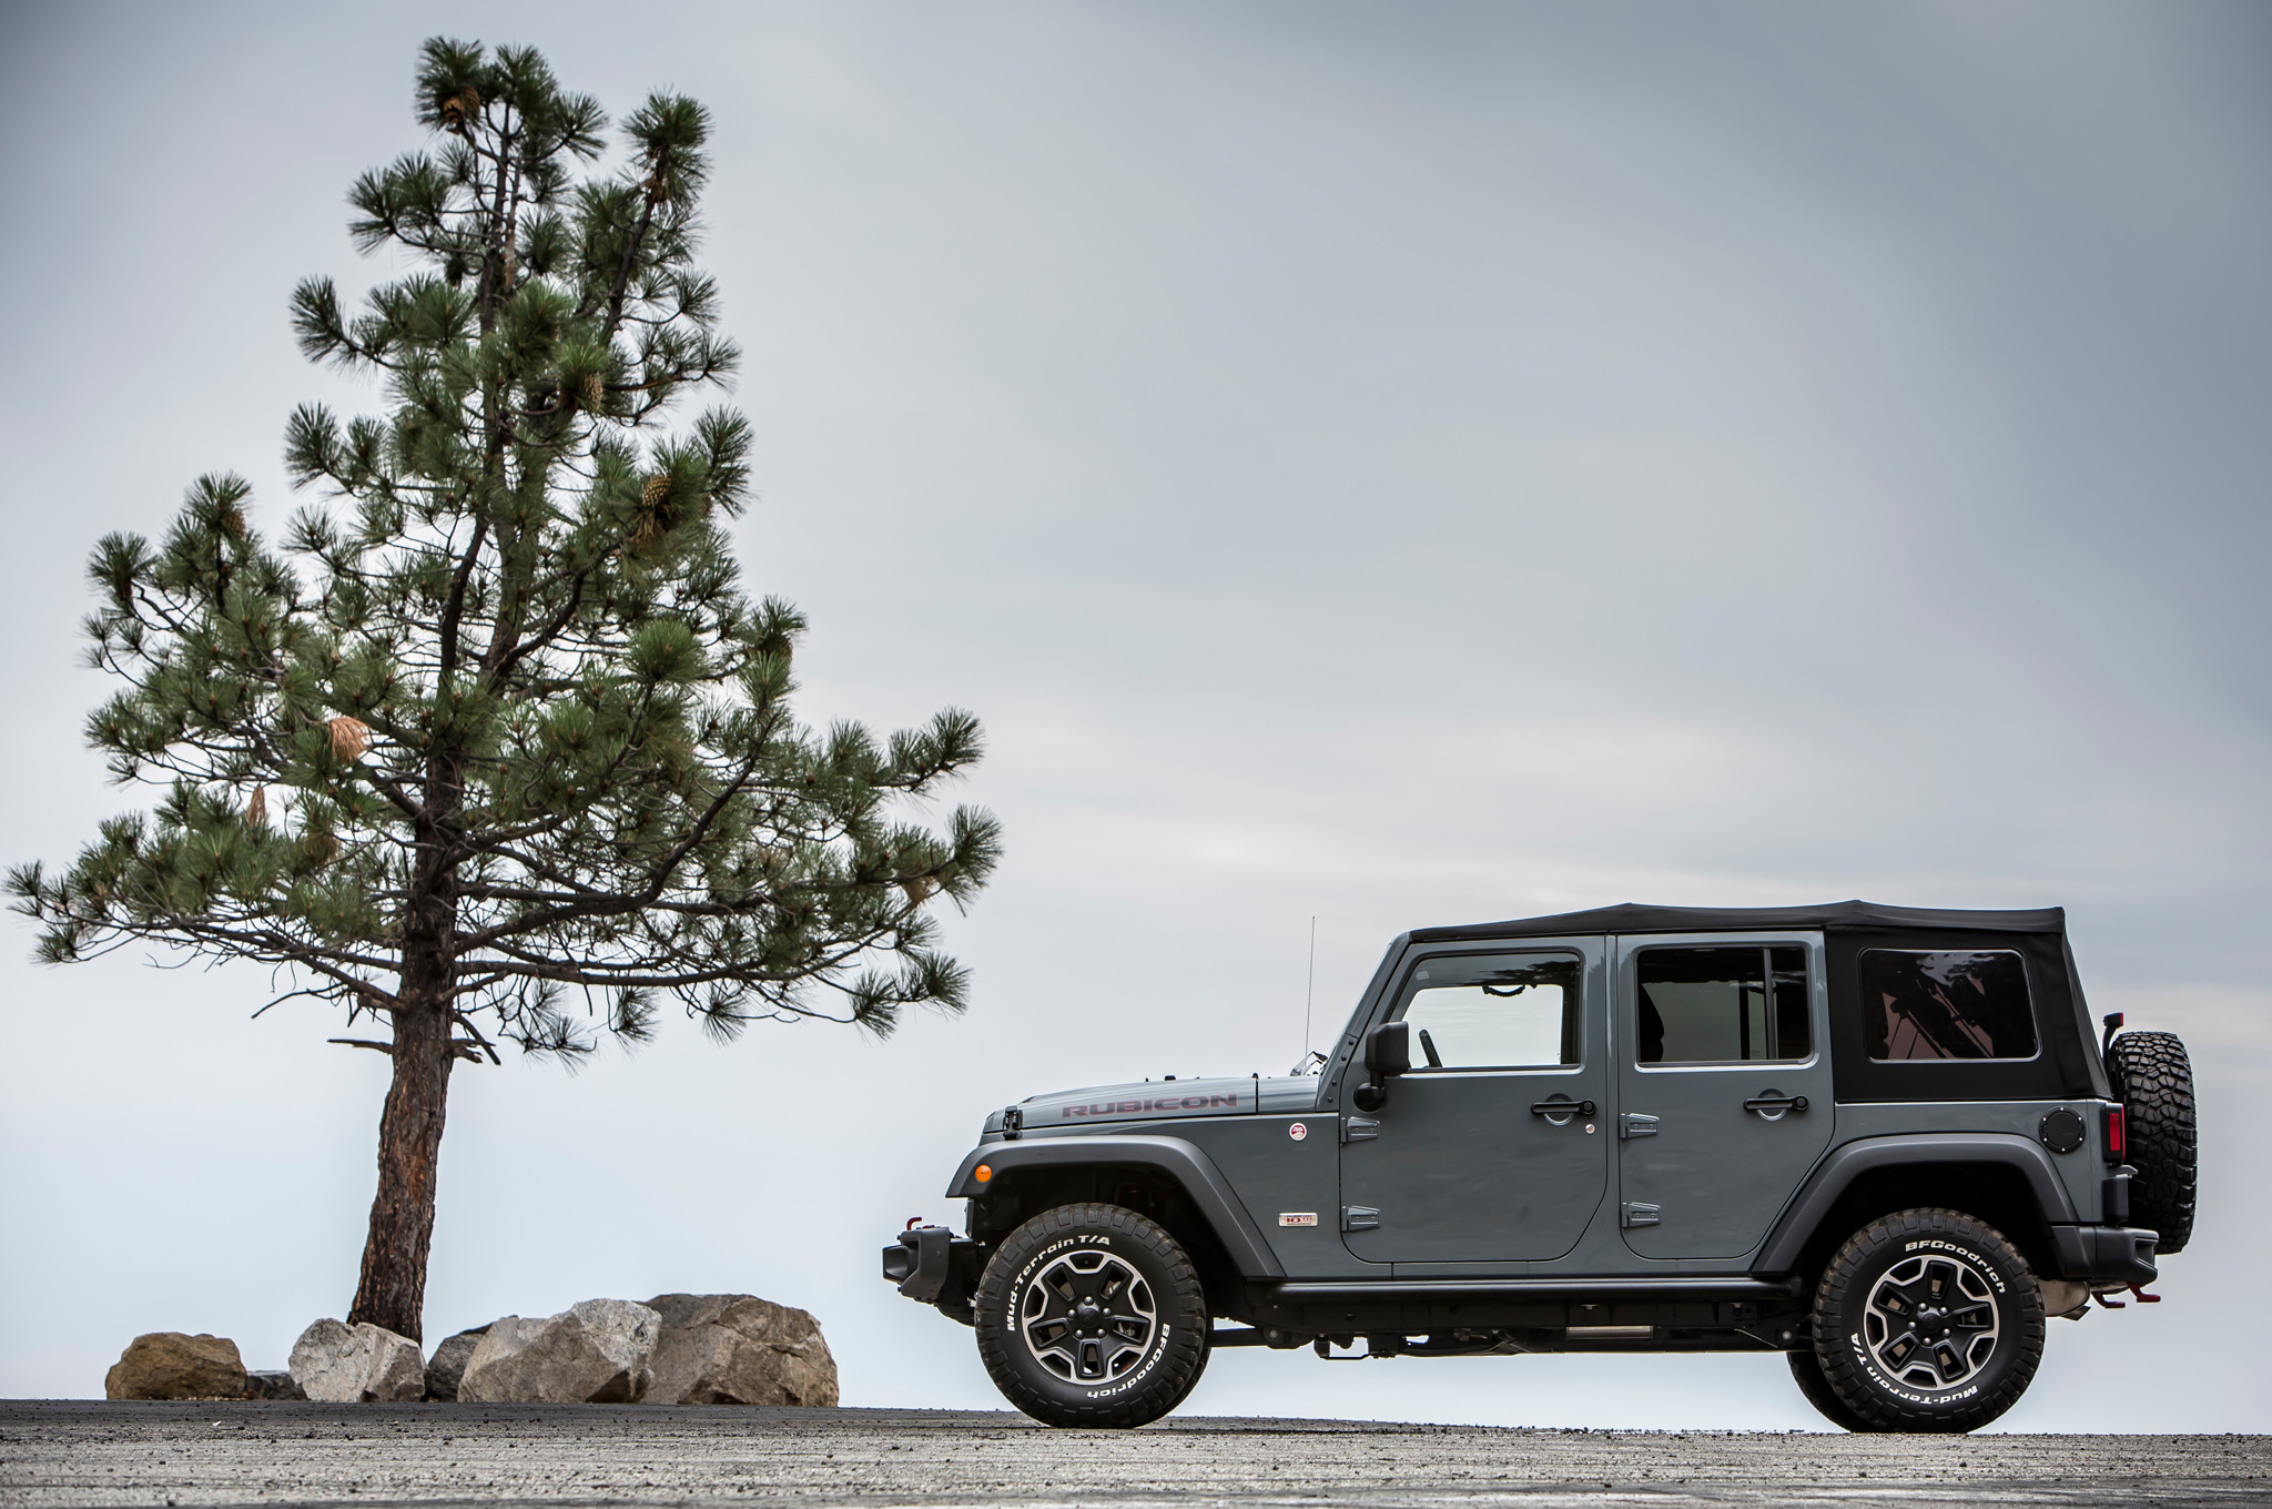
POLYGON ((1604 907, 1404 934, 1288 1077, 986 1118, 884 1277, 1050 1425, 1225 1345, 1768 1350, 1847 1429, 2011 1409, 2047 1316, 2192 1229, 2183 1045, 2095 1034, 2065 914, 1604 907), (1216 1318, 1231 1325, 1216 1325, 1216 1318))

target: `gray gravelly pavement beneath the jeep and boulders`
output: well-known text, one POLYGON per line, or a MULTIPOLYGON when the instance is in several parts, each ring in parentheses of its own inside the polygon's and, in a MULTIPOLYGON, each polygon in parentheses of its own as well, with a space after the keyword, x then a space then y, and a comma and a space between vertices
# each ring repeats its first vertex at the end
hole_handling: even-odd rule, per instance
POLYGON ((1527 1432, 1013 1414, 0 1402, 0 1507, 2272 1504, 2272 1436, 1527 1432))

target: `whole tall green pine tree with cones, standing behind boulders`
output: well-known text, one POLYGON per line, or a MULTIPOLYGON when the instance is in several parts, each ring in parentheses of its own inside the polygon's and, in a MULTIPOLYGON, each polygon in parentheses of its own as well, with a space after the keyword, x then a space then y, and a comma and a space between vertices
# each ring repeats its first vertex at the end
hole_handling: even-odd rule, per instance
POLYGON ((643 1039, 673 1000, 718 1039, 961 1009, 929 909, 997 854, 984 811, 895 816, 979 759, 970 714, 793 718, 804 620, 741 591, 722 532, 747 423, 670 423, 738 357, 695 268, 704 109, 652 95, 609 170, 543 57, 443 39, 416 107, 434 148, 350 205, 418 270, 352 318, 329 280, 293 295, 307 357, 389 411, 291 416, 323 502, 279 550, 232 475, 159 543, 100 541, 89 659, 123 689, 89 741, 161 795, 9 875, 43 961, 157 941, 389 1025, 334 1039, 393 1059, 350 1320, 411 1339, 454 1061, 643 1039))

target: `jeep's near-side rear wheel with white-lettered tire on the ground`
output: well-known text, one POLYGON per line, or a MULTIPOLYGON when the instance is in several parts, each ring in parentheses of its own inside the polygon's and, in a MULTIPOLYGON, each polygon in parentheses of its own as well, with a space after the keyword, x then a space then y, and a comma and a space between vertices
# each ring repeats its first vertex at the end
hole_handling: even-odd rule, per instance
POLYGON ((1831 1257, 1813 1332, 1822 1379, 1863 1429, 1965 1432, 2011 1409, 2036 1377, 2043 1295, 1988 1223, 1895 1211, 1831 1257), (1911 1336, 1922 1341, 1904 1348, 1911 1336))

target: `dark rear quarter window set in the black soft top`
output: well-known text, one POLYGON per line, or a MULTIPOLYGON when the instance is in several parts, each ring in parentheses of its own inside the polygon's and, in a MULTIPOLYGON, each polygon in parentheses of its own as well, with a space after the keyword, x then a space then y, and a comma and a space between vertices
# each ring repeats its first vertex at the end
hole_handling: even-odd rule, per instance
POLYGON ((2027 966, 2006 950, 1861 952, 1861 1029, 1870 1057, 2033 1059, 2027 966))

